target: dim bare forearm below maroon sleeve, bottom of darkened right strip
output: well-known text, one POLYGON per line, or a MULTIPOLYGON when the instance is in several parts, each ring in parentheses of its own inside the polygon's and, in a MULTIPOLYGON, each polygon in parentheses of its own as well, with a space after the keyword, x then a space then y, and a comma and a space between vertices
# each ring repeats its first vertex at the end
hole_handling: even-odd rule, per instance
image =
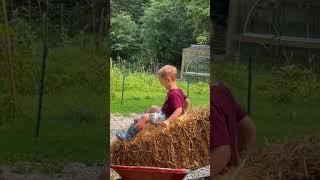
POLYGON ((230 145, 215 147, 211 152, 210 175, 215 177, 220 174, 231 160, 230 145))

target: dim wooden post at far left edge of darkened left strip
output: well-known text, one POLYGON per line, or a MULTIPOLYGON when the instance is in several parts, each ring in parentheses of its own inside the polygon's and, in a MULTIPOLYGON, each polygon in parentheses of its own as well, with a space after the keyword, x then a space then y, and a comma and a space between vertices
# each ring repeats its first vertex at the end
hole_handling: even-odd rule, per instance
POLYGON ((16 83, 15 83, 15 73, 14 73, 14 67, 12 64, 12 54, 11 54, 11 39, 10 39, 10 33, 9 33, 9 22, 8 22, 8 16, 7 16, 7 6, 6 1, 2 0, 2 12, 3 12, 3 19, 4 19, 4 27, 5 27, 5 46, 6 46, 6 55, 5 58, 8 62, 9 67, 9 76, 10 76, 10 87, 11 87, 11 102, 12 105, 14 117, 16 115, 16 83))

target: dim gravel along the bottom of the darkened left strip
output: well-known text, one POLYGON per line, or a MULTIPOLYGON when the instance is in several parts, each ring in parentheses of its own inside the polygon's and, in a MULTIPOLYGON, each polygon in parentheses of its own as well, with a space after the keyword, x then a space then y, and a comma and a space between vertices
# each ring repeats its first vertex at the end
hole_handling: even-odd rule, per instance
POLYGON ((0 167, 0 180, 91 180, 98 179, 104 167, 87 166, 82 163, 70 163, 63 167, 61 173, 43 174, 32 170, 29 162, 19 162, 12 167, 0 167))

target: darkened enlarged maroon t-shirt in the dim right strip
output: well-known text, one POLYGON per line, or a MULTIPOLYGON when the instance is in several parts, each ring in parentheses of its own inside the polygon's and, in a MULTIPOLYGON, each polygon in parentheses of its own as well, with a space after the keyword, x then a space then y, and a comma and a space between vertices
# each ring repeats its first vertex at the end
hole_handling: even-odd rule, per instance
POLYGON ((210 86, 211 149, 231 146, 231 162, 237 163, 237 125, 247 114, 223 84, 210 86))

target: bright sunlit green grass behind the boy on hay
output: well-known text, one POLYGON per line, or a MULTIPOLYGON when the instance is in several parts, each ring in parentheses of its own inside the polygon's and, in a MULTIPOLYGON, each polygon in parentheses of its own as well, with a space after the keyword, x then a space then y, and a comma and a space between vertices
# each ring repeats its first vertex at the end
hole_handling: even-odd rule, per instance
MULTIPOLYGON (((160 85, 155 75, 145 73, 128 73, 125 78, 124 98, 121 106, 123 75, 118 68, 114 68, 114 78, 111 80, 111 113, 141 113, 151 105, 162 106, 166 90, 160 85), (112 83, 113 82, 113 83, 112 83)), ((178 81, 178 86, 187 95, 187 82, 178 81)), ((191 106, 209 105, 209 84, 193 81, 189 85, 189 99, 191 106)))

